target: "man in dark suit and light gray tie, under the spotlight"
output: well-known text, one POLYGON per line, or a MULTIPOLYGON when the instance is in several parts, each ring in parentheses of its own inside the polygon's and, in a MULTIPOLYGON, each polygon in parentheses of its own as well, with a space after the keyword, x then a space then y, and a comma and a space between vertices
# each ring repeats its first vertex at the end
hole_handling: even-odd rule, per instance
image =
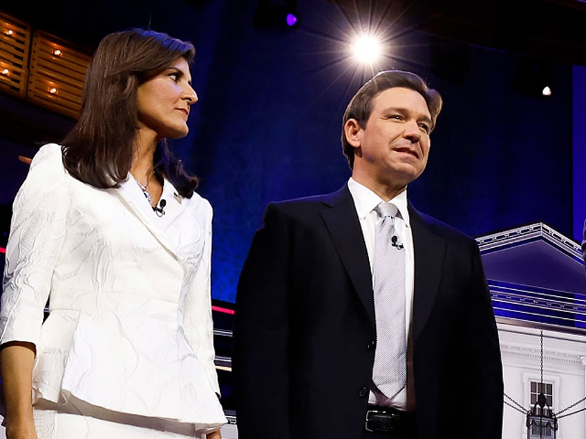
POLYGON ((441 108, 419 76, 380 72, 343 116, 348 183, 267 206, 236 295, 239 439, 501 437, 502 365, 478 245, 407 199, 441 108), (390 253, 379 253, 384 204, 390 253), (402 268, 381 271, 379 254, 401 255, 402 268), (381 302, 385 276, 396 285, 381 302))

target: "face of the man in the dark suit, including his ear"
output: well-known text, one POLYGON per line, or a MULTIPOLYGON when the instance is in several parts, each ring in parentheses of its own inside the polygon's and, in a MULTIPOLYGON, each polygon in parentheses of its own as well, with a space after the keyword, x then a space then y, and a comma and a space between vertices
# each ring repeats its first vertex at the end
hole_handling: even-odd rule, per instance
POLYGON ((375 186, 399 188, 413 182, 427 164, 431 115, 422 95, 388 88, 372 101, 372 112, 355 142, 353 175, 375 186))

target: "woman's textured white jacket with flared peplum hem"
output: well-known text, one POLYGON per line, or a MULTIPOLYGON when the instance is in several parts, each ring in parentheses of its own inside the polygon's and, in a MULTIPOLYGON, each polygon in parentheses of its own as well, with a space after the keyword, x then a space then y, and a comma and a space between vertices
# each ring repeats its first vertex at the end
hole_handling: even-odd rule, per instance
POLYGON ((227 422, 216 396, 212 209, 175 192, 165 181, 158 217, 133 179, 98 190, 66 173, 59 145, 35 155, 14 202, 0 306, 0 343, 36 344, 35 402, 73 396, 198 430, 227 422))

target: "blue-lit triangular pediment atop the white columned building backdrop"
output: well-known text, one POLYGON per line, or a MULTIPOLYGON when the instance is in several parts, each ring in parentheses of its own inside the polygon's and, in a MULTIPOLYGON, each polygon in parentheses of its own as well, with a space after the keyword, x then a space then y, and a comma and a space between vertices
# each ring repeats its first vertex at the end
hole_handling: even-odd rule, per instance
POLYGON ((476 240, 498 318, 586 331, 580 244, 543 223, 476 240))

